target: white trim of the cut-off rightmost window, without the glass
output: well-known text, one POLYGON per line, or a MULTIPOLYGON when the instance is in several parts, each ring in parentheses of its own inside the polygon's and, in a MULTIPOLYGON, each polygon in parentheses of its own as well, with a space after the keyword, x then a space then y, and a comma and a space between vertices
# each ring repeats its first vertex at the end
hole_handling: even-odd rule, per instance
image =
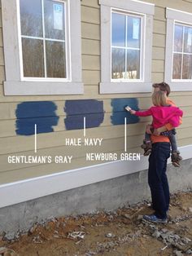
POLYGON ((167 35, 166 35, 164 81, 171 86, 172 91, 192 90, 192 80, 172 79, 172 51, 173 51, 173 41, 174 41, 174 24, 177 22, 184 25, 189 25, 189 24, 192 25, 192 13, 167 8, 166 18, 167 18, 167 35))

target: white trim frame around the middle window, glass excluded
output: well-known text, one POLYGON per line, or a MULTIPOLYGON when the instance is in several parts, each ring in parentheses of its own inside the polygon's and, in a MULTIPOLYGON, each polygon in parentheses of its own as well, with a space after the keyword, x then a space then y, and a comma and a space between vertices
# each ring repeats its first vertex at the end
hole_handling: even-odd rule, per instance
POLYGON ((155 5, 133 0, 99 0, 101 5, 101 82, 100 94, 151 92, 152 29, 155 5), (111 81, 111 10, 119 9, 143 16, 146 23, 143 49, 143 81, 111 81))

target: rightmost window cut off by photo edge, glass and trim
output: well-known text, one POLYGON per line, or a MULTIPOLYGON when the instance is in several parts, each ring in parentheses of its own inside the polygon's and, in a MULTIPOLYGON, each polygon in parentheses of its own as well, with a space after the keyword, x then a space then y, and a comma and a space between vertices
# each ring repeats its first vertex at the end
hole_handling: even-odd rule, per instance
POLYGON ((192 14, 167 8, 165 81, 172 90, 192 90, 192 14))

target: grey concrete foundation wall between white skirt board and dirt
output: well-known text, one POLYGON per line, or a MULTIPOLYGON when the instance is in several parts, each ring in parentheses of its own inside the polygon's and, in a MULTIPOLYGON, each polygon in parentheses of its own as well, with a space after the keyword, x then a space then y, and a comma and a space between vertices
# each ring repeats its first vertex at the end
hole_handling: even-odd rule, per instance
MULTIPOLYGON (((168 165, 168 180, 172 193, 192 190, 192 159, 182 161, 181 168, 168 165)), ((4 207, 0 209, 0 233, 6 232, 7 238, 13 239, 16 232, 26 232, 47 218, 115 210, 150 198, 147 170, 143 170, 4 207)))

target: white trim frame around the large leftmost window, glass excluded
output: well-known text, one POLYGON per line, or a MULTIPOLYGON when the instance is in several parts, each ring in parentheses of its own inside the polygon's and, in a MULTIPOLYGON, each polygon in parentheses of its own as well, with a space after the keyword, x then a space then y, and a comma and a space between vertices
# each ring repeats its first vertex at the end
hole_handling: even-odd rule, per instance
POLYGON ((58 78, 22 79, 18 26, 19 0, 2 0, 2 33, 6 81, 5 95, 79 95, 84 93, 81 78, 81 1, 67 0, 69 56, 71 77, 68 82, 58 78))

